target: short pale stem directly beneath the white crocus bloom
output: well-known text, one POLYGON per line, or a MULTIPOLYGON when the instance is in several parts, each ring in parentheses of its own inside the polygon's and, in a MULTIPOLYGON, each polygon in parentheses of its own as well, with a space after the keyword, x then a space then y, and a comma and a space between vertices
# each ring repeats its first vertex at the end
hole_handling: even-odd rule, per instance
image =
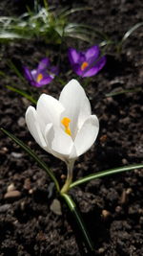
POLYGON ((67 193, 67 191, 70 188, 70 185, 72 183, 73 165, 74 165, 74 160, 72 160, 70 162, 67 162, 68 174, 67 174, 66 182, 65 182, 64 186, 61 189, 61 194, 67 193))

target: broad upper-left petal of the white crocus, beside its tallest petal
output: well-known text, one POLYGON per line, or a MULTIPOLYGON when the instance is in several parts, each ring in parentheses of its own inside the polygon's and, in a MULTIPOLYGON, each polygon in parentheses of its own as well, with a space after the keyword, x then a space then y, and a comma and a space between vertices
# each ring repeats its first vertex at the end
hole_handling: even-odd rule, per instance
POLYGON ((37 114, 46 125, 52 123, 53 126, 59 126, 60 116, 64 111, 63 105, 50 95, 42 94, 37 102, 37 114))

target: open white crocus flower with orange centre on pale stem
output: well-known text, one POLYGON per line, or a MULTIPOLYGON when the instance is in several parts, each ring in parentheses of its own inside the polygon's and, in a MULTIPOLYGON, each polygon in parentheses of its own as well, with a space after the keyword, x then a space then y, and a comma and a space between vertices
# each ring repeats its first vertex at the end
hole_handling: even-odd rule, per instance
POLYGON ((92 147, 99 129, 82 86, 76 80, 69 81, 59 101, 42 94, 36 109, 28 107, 26 123, 43 150, 66 162, 70 183, 75 159, 92 147))

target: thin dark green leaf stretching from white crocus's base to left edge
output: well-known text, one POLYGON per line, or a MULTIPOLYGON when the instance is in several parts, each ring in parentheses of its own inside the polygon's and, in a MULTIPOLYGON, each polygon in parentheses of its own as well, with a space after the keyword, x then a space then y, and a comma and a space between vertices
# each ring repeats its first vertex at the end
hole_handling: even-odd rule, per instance
POLYGON ((55 184, 55 187, 57 189, 57 191, 59 192, 59 183, 56 179, 56 177, 53 175, 52 171, 50 168, 48 168, 48 166, 46 165, 46 163, 41 160, 37 154, 35 154, 33 151, 31 151, 31 149, 24 144, 21 140, 17 139, 14 135, 12 135, 8 130, 6 130, 5 128, 0 128, 6 135, 8 135, 10 137, 10 139, 12 141, 14 141, 17 145, 19 145, 24 151, 26 151, 29 155, 31 155, 32 159, 35 160, 35 162, 38 163, 38 165, 48 174, 50 175, 52 181, 55 184))

